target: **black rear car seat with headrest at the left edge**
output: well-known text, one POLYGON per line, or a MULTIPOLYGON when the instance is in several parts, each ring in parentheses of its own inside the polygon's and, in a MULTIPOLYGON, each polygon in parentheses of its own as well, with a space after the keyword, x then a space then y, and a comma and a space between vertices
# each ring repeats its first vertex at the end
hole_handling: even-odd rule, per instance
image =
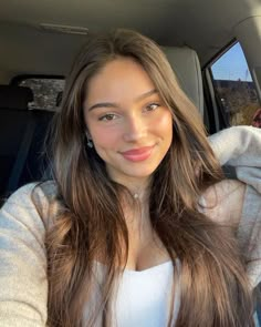
MULTIPOLYGON (((51 112, 29 110, 31 89, 0 85, 0 197, 41 178, 40 152, 51 112)), ((0 202, 0 203, 1 203, 0 202)))

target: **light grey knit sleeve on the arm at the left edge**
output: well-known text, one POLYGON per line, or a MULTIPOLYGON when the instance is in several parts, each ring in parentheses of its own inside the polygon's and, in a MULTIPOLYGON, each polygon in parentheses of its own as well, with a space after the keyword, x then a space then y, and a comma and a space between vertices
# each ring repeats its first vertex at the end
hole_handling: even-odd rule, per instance
POLYGON ((33 188, 21 187, 0 211, 0 327, 46 324, 45 227, 31 200, 33 188))

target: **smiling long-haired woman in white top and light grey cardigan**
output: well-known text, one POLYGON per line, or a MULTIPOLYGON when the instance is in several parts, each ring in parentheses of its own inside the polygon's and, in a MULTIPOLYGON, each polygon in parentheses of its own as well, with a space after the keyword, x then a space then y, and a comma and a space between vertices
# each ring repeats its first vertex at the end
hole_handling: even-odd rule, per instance
POLYGON ((253 326, 236 237, 247 186, 223 178, 152 40, 88 40, 52 162, 53 182, 19 190, 1 212, 3 326, 253 326))

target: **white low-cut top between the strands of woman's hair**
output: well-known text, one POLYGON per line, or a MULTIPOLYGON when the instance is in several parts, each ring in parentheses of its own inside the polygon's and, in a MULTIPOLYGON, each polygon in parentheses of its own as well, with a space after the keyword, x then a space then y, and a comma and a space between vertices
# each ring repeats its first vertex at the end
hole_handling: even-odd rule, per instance
MULTIPOLYGON (((179 262, 176 260, 179 268, 179 262)), ((102 280, 106 268, 97 263, 97 282, 102 280)), ((140 272, 125 269, 119 279, 115 302, 112 304, 113 327, 165 327, 168 325, 173 296, 173 263, 154 266, 140 272)), ((95 297, 97 294, 95 295, 95 297)), ((97 298, 96 298, 97 299, 97 298)), ((90 314, 90 302, 84 311, 85 319, 90 314)), ((179 310, 179 290, 175 287, 173 307, 174 321, 179 310)), ((85 320, 84 319, 84 320, 85 320)), ((101 318, 95 326, 102 326, 101 318)))

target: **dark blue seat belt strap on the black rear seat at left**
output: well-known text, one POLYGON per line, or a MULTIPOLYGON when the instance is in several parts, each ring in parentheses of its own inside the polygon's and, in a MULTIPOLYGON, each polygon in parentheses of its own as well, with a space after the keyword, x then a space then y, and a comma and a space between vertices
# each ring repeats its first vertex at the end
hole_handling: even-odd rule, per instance
POLYGON ((25 132, 24 132, 20 149, 17 154, 15 162, 13 164, 12 172, 8 182, 8 187, 7 187, 8 192, 13 192, 19 186, 19 181, 21 178, 21 174, 28 157, 28 153, 31 146, 31 141, 34 134, 35 126, 36 126, 36 122, 34 119, 30 120, 27 123, 25 132))

